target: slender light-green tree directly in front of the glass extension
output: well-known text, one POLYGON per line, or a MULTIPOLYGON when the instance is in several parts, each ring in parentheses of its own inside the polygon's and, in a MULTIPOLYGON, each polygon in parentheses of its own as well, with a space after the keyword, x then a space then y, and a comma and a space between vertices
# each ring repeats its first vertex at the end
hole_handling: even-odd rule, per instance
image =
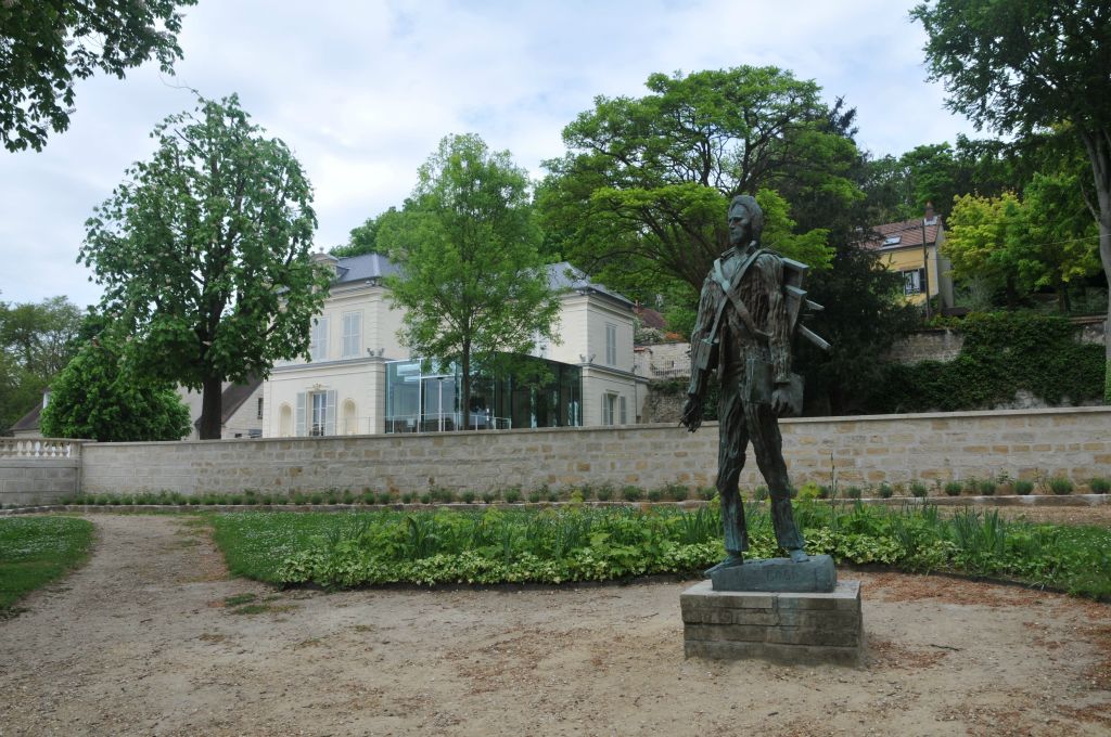
POLYGON ((538 252, 529 179, 508 151, 449 135, 418 171, 402 215, 377 235, 400 266, 386 284, 407 311, 401 339, 424 359, 459 365, 467 413, 476 365, 506 367, 503 353, 557 340, 559 299, 538 252))

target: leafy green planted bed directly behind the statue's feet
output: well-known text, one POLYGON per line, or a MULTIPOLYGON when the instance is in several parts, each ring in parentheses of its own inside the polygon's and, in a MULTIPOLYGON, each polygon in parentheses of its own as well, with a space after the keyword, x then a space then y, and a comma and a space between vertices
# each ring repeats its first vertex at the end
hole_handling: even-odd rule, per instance
MULTIPOLYGON (((767 505, 747 512, 757 558, 777 549, 767 505)), ((935 505, 795 503, 811 554, 839 563, 952 572, 1111 596, 1111 531, 1009 522, 935 505)), ((697 508, 589 507, 348 515, 216 515, 238 575, 330 588, 408 583, 549 583, 692 574, 723 555, 717 501, 697 508)))

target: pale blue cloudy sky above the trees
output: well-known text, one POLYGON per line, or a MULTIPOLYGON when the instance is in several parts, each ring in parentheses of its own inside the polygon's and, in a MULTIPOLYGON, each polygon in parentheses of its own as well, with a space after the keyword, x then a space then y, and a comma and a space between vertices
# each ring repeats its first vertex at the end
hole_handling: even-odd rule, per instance
POLYGON ((892 0, 200 0, 184 59, 77 88, 43 152, 0 151, 0 300, 100 289, 74 263, 84 220, 153 150, 152 128, 232 92, 294 151, 316 190, 317 245, 400 205, 448 133, 480 134, 539 179, 561 129, 652 72, 773 64, 858 109, 877 155, 973 133, 925 81, 924 34, 892 0))

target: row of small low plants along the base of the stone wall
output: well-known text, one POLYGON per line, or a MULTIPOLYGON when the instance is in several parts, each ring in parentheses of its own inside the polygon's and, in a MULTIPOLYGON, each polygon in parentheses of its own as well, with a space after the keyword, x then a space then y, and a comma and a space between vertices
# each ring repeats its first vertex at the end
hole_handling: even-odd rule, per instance
MULTIPOLYGON (((1010 481, 1004 477, 995 478, 967 478, 964 481, 933 482, 932 487, 914 481, 910 484, 881 483, 861 488, 859 486, 848 486, 840 493, 831 486, 821 486, 813 483, 803 484, 798 492, 798 497, 807 498, 835 498, 841 496, 848 499, 859 499, 868 497, 890 498, 892 496, 914 496, 919 498, 928 496, 960 496, 962 494, 972 496, 991 496, 1000 494, 1031 494, 1035 489, 1041 494, 1071 494, 1077 486, 1070 478, 1063 476, 1050 477, 1039 475, 1034 481, 1020 478, 1010 481)), ((1097 477, 1088 482, 1088 489, 1092 494, 1107 494, 1111 492, 1111 481, 1097 477)), ((553 489, 541 486, 531 491, 524 491, 519 486, 510 486, 500 491, 487 492, 453 492, 449 488, 432 487, 426 492, 387 492, 366 488, 361 493, 350 489, 323 489, 318 492, 292 492, 289 494, 258 492, 246 489, 238 494, 207 493, 200 495, 187 495, 180 492, 146 492, 139 494, 91 494, 77 495, 63 501, 66 504, 82 504, 93 506, 108 505, 309 505, 309 504, 450 504, 463 502, 468 504, 493 504, 496 502, 507 502, 516 504, 520 502, 682 502, 689 498, 711 499, 715 491, 710 487, 691 489, 679 483, 665 484, 663 486, 644 489, 640 486, 625 485, 617 487, 612 484, 583 485, 570 489, 553 489)), ((747 494, 752 499, 763 501, 768 498, 768 488, 758 486, 747 494)))

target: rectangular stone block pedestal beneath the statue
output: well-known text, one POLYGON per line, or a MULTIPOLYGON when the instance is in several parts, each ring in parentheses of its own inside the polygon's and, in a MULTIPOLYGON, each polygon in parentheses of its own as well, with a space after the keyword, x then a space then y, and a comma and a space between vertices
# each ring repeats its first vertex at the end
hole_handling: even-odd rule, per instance
POLYGON ((717 592, 703 580, 683 592, 680 605, 687 657, 860 664, 859 580, 840 582, 828 594, 717 592))

